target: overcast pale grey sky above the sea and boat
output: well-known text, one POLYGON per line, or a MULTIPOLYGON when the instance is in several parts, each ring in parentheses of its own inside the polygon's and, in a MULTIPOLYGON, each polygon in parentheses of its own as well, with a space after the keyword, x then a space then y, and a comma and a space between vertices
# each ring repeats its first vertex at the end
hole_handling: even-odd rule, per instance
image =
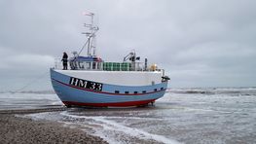
POLYGON ((83 12, 95 14, 97 55, 107 61, 135 50, 165 69, 170 88, 256 87, 255 7, 255 0, 0 0, 0 91, 52 90, 55 58, 86 41, 83 12))

